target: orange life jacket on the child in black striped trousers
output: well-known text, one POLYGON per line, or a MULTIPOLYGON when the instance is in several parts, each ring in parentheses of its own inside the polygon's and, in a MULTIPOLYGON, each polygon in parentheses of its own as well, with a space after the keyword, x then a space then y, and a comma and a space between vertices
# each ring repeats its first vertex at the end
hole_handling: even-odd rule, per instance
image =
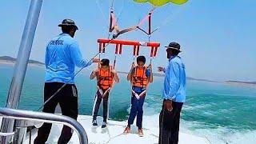
POLYGON ((109 70, 103 70, 100 68, 98 70, 98 86, 106 90, 113 85, 114 75, 112 74, 112 66, 110 66, 109 70))

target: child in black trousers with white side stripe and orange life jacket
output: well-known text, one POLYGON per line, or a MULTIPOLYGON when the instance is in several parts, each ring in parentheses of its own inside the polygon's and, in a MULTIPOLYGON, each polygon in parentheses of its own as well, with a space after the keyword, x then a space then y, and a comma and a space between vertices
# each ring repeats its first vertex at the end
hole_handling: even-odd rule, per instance
POLYGON ((98 126, 97 124, 97 115, 98 109, 103 99, 103 123, 102 128, 106 127, 106 118, 107 118, 107 110, 108 110, 108 98, 109 92, 112 88, 114 82, 119 82, 118 74, 115 70, 110 66, 109 59, 102 59, 100 62, 100 66, 98 70, 94 70, 90 74, 90 79, 97 78, 97 92, 96 92, 96 103, 94 104, 94 112, 93 112, 93 126, 98 126))

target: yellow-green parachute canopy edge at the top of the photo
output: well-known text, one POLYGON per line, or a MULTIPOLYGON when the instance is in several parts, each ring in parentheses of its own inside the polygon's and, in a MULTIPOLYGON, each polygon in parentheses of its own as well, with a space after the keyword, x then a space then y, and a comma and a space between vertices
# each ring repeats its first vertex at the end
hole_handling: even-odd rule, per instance
POLYGON ((168 2, 172 2, 176 5, 182 5, 188 0, 134 0, 134 2, 150 2, 153 6, 163 6, 168 2))

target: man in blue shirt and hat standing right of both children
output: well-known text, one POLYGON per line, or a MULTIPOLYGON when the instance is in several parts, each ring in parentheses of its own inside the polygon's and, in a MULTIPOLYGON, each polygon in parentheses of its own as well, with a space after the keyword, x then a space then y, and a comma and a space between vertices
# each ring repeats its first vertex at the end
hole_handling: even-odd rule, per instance
POLYGON ((169 64, 166 68, 158 67, 165 73, 162 92, 163 105, 159 117, 159 144, 178 144, 180 112, 186 99, 186 72, 182 59, 180 45, 170 42, 166 46, 169 64))

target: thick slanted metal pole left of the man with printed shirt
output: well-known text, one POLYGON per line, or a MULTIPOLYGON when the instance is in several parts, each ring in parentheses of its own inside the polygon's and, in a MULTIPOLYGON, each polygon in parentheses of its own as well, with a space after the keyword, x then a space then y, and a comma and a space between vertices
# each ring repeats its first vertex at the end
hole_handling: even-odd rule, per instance
MULTIPOLYGON (((18 102, 22 92, 22 84, 26 74, 26 67, 30 58, 30 51, 34 40, 34 33, 38 24, 38 17, 42 6, 42 0, 31 0, 30 9, 26 18, 26 25, 22 34, 22 41, 18 50, 18 57, 14 66, 14 75, 11 81, 6 107, 18 108, 18 102)), ((3 118, 1 132, 13 132, 14 119, 3 118)), ((0 143, 6 144, 11 137, 1 137, 0 143)))

